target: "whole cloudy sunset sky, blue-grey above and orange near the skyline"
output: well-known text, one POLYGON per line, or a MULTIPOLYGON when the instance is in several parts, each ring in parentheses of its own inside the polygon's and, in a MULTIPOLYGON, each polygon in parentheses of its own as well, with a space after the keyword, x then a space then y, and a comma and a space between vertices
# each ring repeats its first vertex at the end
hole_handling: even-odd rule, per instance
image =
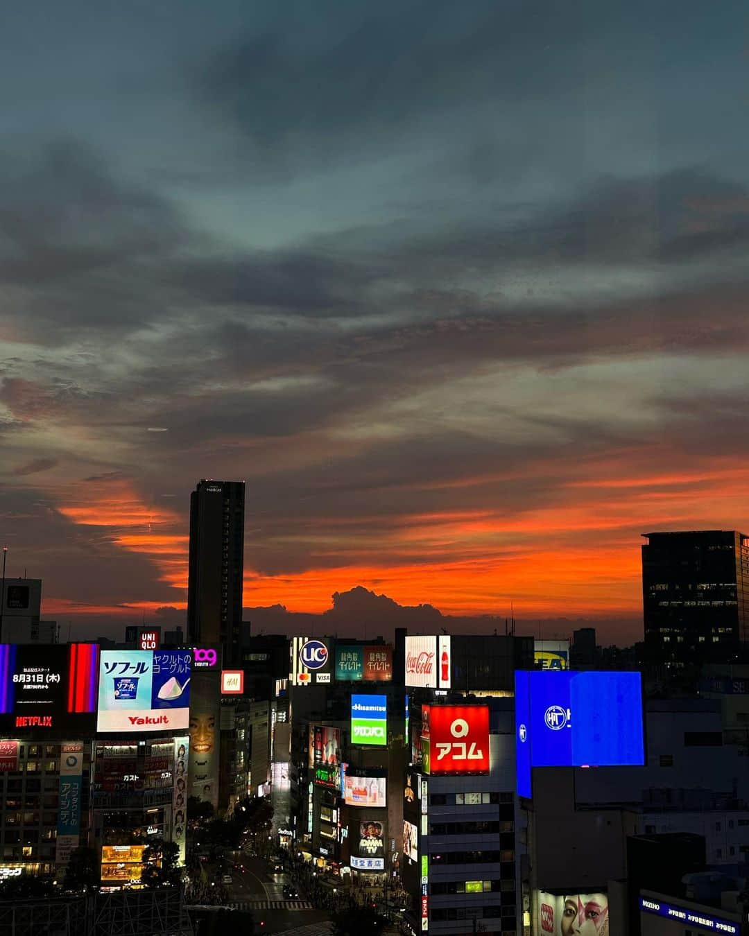
POLYGON ((749 14, 725 0, 4 11, 0 541, 43 611, 632 622, 749 527, 749 14))

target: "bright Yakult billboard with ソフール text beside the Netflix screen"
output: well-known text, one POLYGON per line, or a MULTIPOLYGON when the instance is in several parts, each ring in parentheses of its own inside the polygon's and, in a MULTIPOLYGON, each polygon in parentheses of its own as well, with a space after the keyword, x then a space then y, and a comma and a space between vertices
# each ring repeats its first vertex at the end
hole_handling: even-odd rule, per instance
POLYGON ((97 731, 169 731, 190 723, 189 650, 105 650, 97 731))

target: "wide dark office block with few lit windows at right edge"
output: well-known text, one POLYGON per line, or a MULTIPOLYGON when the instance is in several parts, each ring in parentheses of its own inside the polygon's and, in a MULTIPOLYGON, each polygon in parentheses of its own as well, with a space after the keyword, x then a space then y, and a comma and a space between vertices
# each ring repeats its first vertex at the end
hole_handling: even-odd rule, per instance
POLYGON ((651 662, 730 661, 749 639, 749 537, 643 534, 642 607, 651 662))

